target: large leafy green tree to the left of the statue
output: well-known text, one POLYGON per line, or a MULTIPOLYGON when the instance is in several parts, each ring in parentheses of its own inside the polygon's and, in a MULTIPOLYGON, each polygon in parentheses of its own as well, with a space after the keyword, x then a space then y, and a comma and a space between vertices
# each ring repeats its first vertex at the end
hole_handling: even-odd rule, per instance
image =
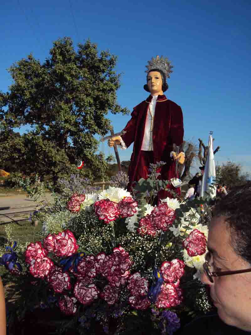
POLYGON ((14 83, 0 94, 1 128, 6 133, 32 127, 19 143, 30 171, 56 177, 83 159, 94 175, 104 175, 107 164, 96 153, 94 135, 109 131, 108 111, 128 113, 116 102, 116 60, 108 51, 98 53, 89 40, 78 44, 76 52, 71 39, 63 38, 54 42, 43 64, 29 55, 9 68, 14 83))

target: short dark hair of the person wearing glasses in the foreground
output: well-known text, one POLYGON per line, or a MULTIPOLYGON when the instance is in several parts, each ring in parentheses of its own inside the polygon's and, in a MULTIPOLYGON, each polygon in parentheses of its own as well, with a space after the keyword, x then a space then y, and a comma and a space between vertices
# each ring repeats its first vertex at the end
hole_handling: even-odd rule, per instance
POLYGON ((251 182, 235 187, 214 210, 226 217, 231 229, 231 244, 237 255, 251 264, 251 182))

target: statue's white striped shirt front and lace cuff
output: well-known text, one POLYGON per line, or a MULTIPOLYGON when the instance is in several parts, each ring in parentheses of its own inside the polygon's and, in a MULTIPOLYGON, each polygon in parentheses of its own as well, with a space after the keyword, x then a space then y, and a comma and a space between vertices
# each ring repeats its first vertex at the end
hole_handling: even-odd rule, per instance
MULTIPOLYGON (((146 118, 146 126, 145 126, 145 132, 143 137, 143 142, 141 146, 141 150, 144 151, 152 151, 153 150, 153 125, 154 125, 154 114, 155 114, 155 107, 158 95, 152 96, 152 101, 149 104, 148 110, 147 110, 147 118, 146 118)), ((126 144, 120 137, 121 142, 121 149, 127 149, 126 144)))

